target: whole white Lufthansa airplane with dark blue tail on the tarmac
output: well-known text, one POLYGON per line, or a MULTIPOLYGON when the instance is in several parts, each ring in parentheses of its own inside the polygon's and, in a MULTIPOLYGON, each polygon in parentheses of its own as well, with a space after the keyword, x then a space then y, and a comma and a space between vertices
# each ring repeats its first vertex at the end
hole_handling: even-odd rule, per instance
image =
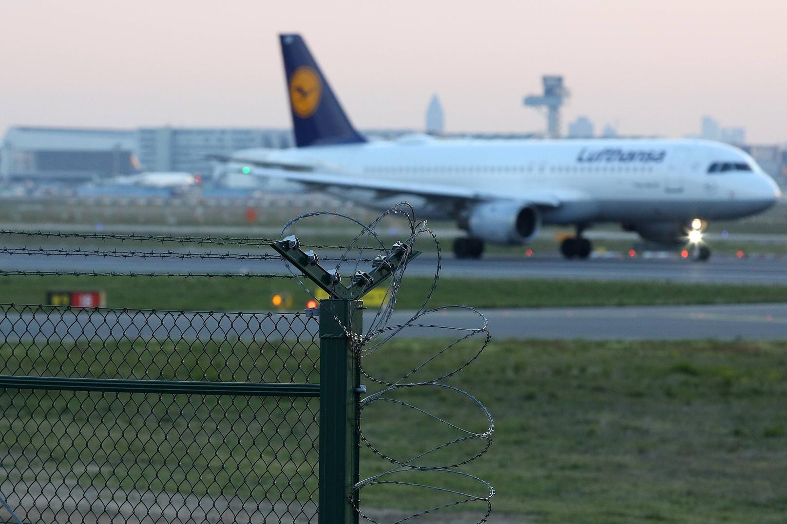
MULTIPOLYGON (((295 142, 226 158, 245 172, 296 181, 365 207, 408 200, 419 218, 451 219, 467 236, 458 258, 484 244, 527 244, 541 225, 573 225, 567 258, 587 258, 589 225, 619 222, 662 244, 699 240, 708 220, 771 207, 781 192, 745 152, 713 141, 367 141, 355 130, 300 35, 280 35, 295 142)), ((708 258, 704 244, 693 250, 708 258)))

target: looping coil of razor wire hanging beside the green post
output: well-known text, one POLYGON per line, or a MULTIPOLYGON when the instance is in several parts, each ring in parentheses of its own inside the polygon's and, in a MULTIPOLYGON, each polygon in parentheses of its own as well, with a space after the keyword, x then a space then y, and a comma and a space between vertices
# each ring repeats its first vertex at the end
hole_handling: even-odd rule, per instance
MULTIPOLYGON (((481 515, 477 522, 485 522, 492 511, 491 498, 494 495, 493 487, 490 486, 488 482, 483 481, 482 479, 475 477, 474 475, 470 475, 464 471, 457 470, 456 468, 464 466, 465 464, 470 463, 472 460, 478 459, 487 452, 491 445, 491 435, 494 431, 494 422, 489 410, 486 409, 481 401, 478 401, 475 396, 467 393, 466 391, 445 383, 445 380, 456 376, 457 373, 463 371, 468 365, 471 365, 471 363, 482 354, 483 350, 490 342, 490 332, 487 326, 486 318, 478 310, 468 306, 444 306, 438 308, 428 307, 428 302, 438 286, 438 279, 442 269, 442 252, 437 237, 434 236, 434 233, 427 227, 426 222, 416 221, 415 212, 408 203, 400 203, 391 207, 389 210, 380 214, 378 218, 368 225, 364 225, 358 222, 356 219, 349 217, 348 215, 338 214, 331 211, 303 214, 297 218, 294 218, 284 226, 282 236, 286 236, 286 234, 290 233, 290 228, 293 225, 299 224, 301 221, 309 220, 310 218, 319 220, 325 216, 342 218, 360 227, 360 232, 357 234, 357 236, 355 236, 355 238, 353 238, 351 242, 349 242, 348 246, 346 247, 347 251, 354 250, 362 254, 365 250, 371 249, 373 251, 381 251, 382 255, 390 257, 390 255, 392 255, 393 248, 386 246, 379 233, 377 233, 377 229, 381 227, 382 222, 386 218, 405 219, 408 225, 409 235, 403 241, 403 245, 405 246, 405 250, 408 254, 412 253, 414 248, 413 246, 416 244, 419 236, 426 236, 427 239, 434 244, 434 248, 437 251, 437 262, 434 271, 434 279, 432 280, 432 283, 424 295, 421 306, 419 306, 419 308, 414 313, 409 313, 408 318, 406 318, 405 321, 396 323, 391 321, 394 313, 394 307, 396 305, 397 294, 401 290, 401 280, 407 266, 406 263, 403 263, 394 270, 393 275, 390 278, 390 283, 386 288, 385 297, 382 299, 382 306, 372 315, 370 323, 366 324, 366 321, 364 321, 364 324, 366 324, 364 335, 352 337, 354 340, 354 350, 356 350, 360 356, 360 372, 363 376, 370 379, 373 383, 379 386, 378 390, 371 392, 371 394, 368 394, 368 396, 360 401, 362 417, 357 431, 359 433, 361 442, 363 442, 364 445, 366 445, 366 447, 371 450, 371 453, 379 457, 379 459, 382 459, 390 464, 389 467, 383 467, 382 471, 378 471, 373 475, 369 475, 366 478, 360 480, 360 482, 358 482, 354 487, 355 492, 361 493, 363 489, 370 489, 374 486, 407 486, 410 489, 430 490, 430 492, 435 493, 436 496, 450 495, 456 497, 456 500, 435 504, 430 508, 416 511, 405 518, 397 520, 396 522, 405 522, 410 521, 411 519, 418 519, 423 515, 434 514, 435 512, 442 511, 447 508, 453 508, 462 504, 482 504, 483 509, 479 511, 481 515), (439 317, 440 313, 447 310, 464 310, 468 313, 472 313, 475 315, 475 317, 477 317, 478 325, 475 328, 466 328, 444 325, 438 321, 429 321, 430 317, 439 317), (389 343, 396 335, 402 332, 407 332, 411 329, 442 329, 446 331, 447 336, 450 336, 449 333, 454 333, 456 339, 453 339, 452 342, 446 343, 441 349, 438 349, 434 352, 434 354, 431 354, 424 361, 414 365, 412 368, 401 370, 400 373, 395 374, 395 378, 393 379, 385 379, 380 376, 376 376, 374 370, 370 369, 368 365, 364 364, 365 361, 369 357, 383 353, 386 343, 389 343), (450 366, 449 369, 438 372, 434 376, 430 376, 428 379, 413 379, 413 377, 419 372, 423 372, 423 370, 429 368, 436 361, 439 361, 441 358, 450 354, 453 350, 464 343, 475 344, 475 349, 471 350, 470 354, 468 354, 466 357, 460 359, 458 364, 450 366), (395 396, 397 394, 401 394, 401 392, 412 392, 417 390, 421 394, 420 400, 423 401, 423 398, 427 396, 426 392, 428 388, 437 388, 438 390, 451 391, 454 394, 460 395, 461 398, 464 398, 465 401, 467 401, 468 405, 471 405, 471 407, 478 410, 478 417, 483 421, 483 427, 479 431, 472 431, 462 427, 458 423, 453 423, 450 420, 447 420, 445 417, 438 416, 433 412, 430 412, 429 409, 419 407, 415 403, 402 401, 395 398, 395 396), (445 442, 439 442, 433 447, 429 448, 427 446, 427 449, 423 449, 413 456, 391 456, 389 453, 382 451, 378 445, 375 445, 373 439, 368 435, 368 429, 370 428, 364 427, 364 411, 368 409, 374 409, 376 405, 381 404, 398 405, 416 414, 426 416, 428 420, 438 423, 442 425, 442 427, 448 428, 449 431, 454 431, 456 436, 453 438, 448 438, 445 440, 445 442), (461 445, 472 442, 478 442, 480 444, 479 449, 472 451, 471 453, 467 453, 465 456, 458 457, 458 460, 456 456, 452 454, 449 456, 454 456, 454 458, 444 460, 439 464, 419 464, 419 462, 429 459, 430 456, 445 452, 447 449, 456 449, 461 445), (449 477, 453 479, 459 479, 460 482, 474 483, 477 492, 469 493, 468 491, 451 489, 449 485, 452 482, 448 482, 447 485, 440 486, 437 484, 419 482, 416 480, 418 475, 429 474, 449 475, 449 477), (399 480, 401 476, 406 476, 408 478, 406 480, 399 480)), ((353 275, 358 270, 362 269, 360 264, 361 261, 354 261, 353 263, 353 261, 340 260, 335 264, 331 264, 330 266, 333 266, 332 269, 336 272, 340 272, 341 274, 353 275), (347 268, 348 265, 349 269, 347 268)), ((286 266, 288 269, 290 269, 290 274, 293 277, 301 279, 299 280, 301 287, 316 298, 316 294, 310 289, 310 286, 312 285, 311 282, 302 280, 303 277, 300 277, 297 274, 297 271, 294 270, 289 264, 286 264, 286 266)), ((365 285, 371 285, 371 283, 365 285)), ((345 333, 347 335, 353 335, 352 326, 345 326, 345 333)), ((368 417, 366 418, 368 419, 368 417)), ((461 452, 459 451, 457 453, 461 452)), ((362 497, 360 500, 362 500, 362 497)), ((364 519, 367 519, 369 522, 378 522, 375 521, 371 515, 364 514, 362 508, 356 507, 356 510, 360 516, 364 517, 364 519)))

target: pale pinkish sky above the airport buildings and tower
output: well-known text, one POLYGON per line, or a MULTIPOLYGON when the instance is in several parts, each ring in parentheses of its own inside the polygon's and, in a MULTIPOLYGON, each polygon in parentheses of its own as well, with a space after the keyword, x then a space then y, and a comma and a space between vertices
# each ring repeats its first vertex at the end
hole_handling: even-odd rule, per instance
POLYGON ((276 36, 300 32, 360 128, 541 131, 522 105, 563 75, 566 123, 787 141, 787 2, 0 2, 9 126, 290 126, 276 36))

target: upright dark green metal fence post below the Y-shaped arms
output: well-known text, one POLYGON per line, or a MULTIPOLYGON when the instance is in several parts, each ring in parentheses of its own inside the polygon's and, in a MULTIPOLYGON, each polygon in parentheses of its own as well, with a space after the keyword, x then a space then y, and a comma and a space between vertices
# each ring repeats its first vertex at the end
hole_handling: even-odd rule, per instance
POLYGON ((358 522, 360 365, 352 337, 361 333, 362 303, 320 301, 320 524, 358 522))

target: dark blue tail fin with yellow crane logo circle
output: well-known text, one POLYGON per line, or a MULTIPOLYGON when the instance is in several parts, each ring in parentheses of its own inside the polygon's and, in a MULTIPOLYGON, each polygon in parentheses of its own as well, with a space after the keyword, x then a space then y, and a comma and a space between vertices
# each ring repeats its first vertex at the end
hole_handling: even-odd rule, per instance
POLYGON ((279 35, 284 59, 295 145, 365 142, 334 96, 301 35, 279 35))

